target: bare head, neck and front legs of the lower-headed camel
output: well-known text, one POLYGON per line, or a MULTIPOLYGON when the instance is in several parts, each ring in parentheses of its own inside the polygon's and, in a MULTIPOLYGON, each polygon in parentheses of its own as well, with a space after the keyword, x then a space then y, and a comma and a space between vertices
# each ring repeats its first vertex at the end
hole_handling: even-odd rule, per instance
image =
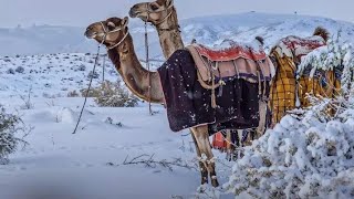
MULTIPOLYGON (((105 21, 95 22, 87 27, 85 35, 103 43, 108 51, 108 56, 114 63, 127 87, 138 97, 163 104, 164 94, 157 72, 145 70, 139 63, 133 39, 127 28, 128 18, 110 18, 105 21), (150 96, 149 96, 150 83, 150 96)), ((208 182, 208 174, 211 185, 218 187, 215 171, 215 159, 211 151, 208 126, 191 127, 191 134, 196 142, 196 150, 199 157, 201 184, 208 182)))

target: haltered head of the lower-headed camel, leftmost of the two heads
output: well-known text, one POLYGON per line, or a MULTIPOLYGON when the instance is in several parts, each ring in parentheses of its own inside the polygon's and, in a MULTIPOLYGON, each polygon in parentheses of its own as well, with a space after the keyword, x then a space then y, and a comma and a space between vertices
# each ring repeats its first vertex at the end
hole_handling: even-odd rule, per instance
POLYGON ((128 34, 128 18, 110 18, 92 23, 86 28, 85 36, 113 49, 122 43, 128 34))

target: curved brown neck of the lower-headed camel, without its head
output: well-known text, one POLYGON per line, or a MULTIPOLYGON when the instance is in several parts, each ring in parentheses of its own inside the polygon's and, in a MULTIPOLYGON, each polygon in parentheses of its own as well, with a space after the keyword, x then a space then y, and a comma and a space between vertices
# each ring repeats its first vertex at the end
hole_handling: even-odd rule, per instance
POLYGON ((123 81, 135 95, 147 102, 164 103, 158 73, 147 71, 142 66, 135 54, 131 35, 121 45, 111 50, 108 54, 123 81))

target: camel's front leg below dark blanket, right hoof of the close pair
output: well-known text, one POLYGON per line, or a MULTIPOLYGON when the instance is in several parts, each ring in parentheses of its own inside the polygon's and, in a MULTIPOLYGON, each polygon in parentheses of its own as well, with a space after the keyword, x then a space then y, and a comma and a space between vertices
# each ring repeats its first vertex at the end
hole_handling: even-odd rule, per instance
POLYGON ((210 147, 208 126, 202 125, 198 127, 192 127, 191 132, 192 134, 195 134, 198 147, 200 149, 201 158, 204 158, 204 156, 206 156, 207 158, 206 165, 211 179, 211 185, 214 187, 218 187, 219 182, 217 179, 217 174, 215 171, 215 159, 210 147))

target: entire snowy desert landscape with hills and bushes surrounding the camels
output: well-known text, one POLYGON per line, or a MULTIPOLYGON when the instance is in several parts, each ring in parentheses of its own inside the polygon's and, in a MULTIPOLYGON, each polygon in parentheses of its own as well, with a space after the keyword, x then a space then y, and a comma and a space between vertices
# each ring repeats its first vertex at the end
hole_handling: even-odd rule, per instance
MULTIPOLYGON (((212 149, 217 188, 200 186, 190 132, 174 133, 163 105, 150 115, 137 98, 134 107, 102 107, 88 97, 74 133, 91 77, 94 88, 104 81, 125 87, 104 48, 92 72, 97 44, 84 38, 87 24, 0 28, 0 105, 21 118, 15 136, 23 140, 2 159, 0 136, 0 199, 354 198, 354 23, 254 11, 180 20, 185 43, 215 48, 261 35, 267 53, 281 38, 309 36, 321 25, 332 43, 310 53, 298 72, 306 64, 344 69, 345 95, 291 112, 239 148, 236 161, 212 149), (329 106, 337 112, 327 114, 329 106)), ((143 63, 144 23, 132 20, 129 31, 143 63)), ((156 71, 165 59, 156 31, 147 32, 156 71)))

